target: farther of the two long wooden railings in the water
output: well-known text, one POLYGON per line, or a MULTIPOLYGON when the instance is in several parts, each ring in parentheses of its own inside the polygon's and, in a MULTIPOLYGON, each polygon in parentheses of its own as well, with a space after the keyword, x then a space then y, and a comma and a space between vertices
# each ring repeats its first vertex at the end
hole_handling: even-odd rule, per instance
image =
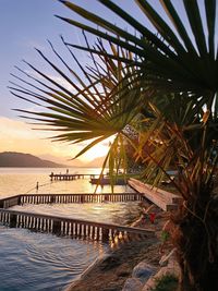
POLYGON ((104 194, 25 194, 0 199, 0 208, 15 205, 52 204, 52 203, 104 203, 142 201, 141 193, 104 193, 104 194))

